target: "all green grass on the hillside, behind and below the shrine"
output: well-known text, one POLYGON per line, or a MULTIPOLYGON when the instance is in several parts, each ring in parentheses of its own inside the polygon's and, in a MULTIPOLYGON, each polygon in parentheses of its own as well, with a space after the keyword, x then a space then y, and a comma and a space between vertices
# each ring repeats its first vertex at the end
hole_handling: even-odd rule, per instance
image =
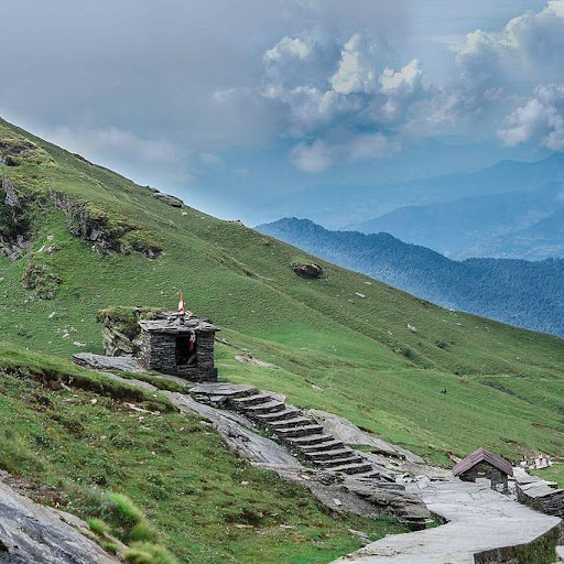
MULTIPOLYGON (((78 350, 101 352, 99 310, 109 307, 113 315, 119 306, 174 308, 182 290, 186 306, 214 319, 232 345, 218 346, 223 380, 252 383, 284 393, 299 405, 340 414, 445 465, 451 464, 449 453, 463 456, 478 446, 514 460, 531 451, 562 453, 561 339, 443 310, 243 226, 189 207, 172 208, 151 191, 0 121, 0 145, 14 135, 41 148, 41 159, 21 158, 17 166, 0 166, 0 177, 9 177, 32 198, 28 207, 33 218, 28 257, 15 262, 0 257, 0 334, 19 346, 0 345, 0 369, 31 377, 10 379, 8 404, 25 398, 13 387, 66 382, 59 359, 78 350), (86 210, 87 219, 76 209, 86 210), (119 252, 106 252, 87 240, 83 220, 94 221, 119 252), (129 245, 131 237, 144 243, 129 245), (40 253, 47 243, 58 250, 40 253), (153 243, 159 253, 148 251, 153 243), (40 300, 22 285, 28 261, 37 256, 61 279, 52 300, 40 300), (325 275, 301 279, 291 269, 294 261, 319 263, 325 275), (278 368, 238 362, 235 356, 243 349, 278 368), (447 394, 440 393, 443 388, 447 394)), ((127 327, 129 322, 123 323, 127 327)), ((358 546, 347 527, 369 527, 335 522, 303 490, 235 459, 197 421, 164 413, 163 399, 135 399, 131 394, 139 390, 86 370, 68 368, 68 375, 74 387, 86 391, 64 403, 56 399, 67 391, 52 392, 53 404, 69 419, 66 425, 80 422, 84 437, 63 434, 61 427, 66 427, 57 423, 66 441, 63 451, 45 429, 41 436, 57 445, 55 456, 51 447, 41 446, 43 438, 34 438, 32 420, 28 424, 10 412, 10 424, 2 429, 17 429, 21 437, 0 446, 12 448, 13 455, 2 464, 15 460, 14 471, 36 480, 101 480, 100 487, 124 494, 142 508, 176 557, 328 562, 358 546), (93 390, 108 399, 95 408, 83 404, 93 390), (161 408, 150 411, 163 414, 148 415, 140 426, 127 410, 105 406, 120 394, 128 401, 156 401, 161 408), (193 426, 199 431, 186 431, 193 426), (101 440, 112 436, 108 430, 115 436, 101 440), (83 445, 77 447, 79 459, 68 454, 70 441, 83 445), (37 448, 39 456, 26 458, 25 453, 37 448)), ((28 408, 18 405, 15 412, 24 416, 28 408)), ((34 412, 33 425, 43 429, 44 416, 34 412)), ((111 524, 79 501, 76 507, 111 524)), ((380 534, 382 524, 375 527, 380 534)))

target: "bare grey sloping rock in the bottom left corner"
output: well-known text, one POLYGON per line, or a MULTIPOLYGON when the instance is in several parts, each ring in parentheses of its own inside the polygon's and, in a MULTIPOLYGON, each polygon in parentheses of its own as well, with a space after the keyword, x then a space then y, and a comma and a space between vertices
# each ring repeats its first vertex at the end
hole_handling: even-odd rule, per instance
POLYGON ((117 564, 119 561, 80 534, 87 524, 40 506, 0 481, 0 562, 10 564, 117 564))

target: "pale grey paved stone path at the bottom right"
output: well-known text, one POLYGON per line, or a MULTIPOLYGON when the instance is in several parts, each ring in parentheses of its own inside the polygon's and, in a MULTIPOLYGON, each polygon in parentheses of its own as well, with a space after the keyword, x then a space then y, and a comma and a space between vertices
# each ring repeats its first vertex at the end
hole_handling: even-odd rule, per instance
MULTIPOLYGON (((417 486, 413 484, 411 487, 417 486)), ((447 524, 387 536, 336 562, 343 564, 350 562, 359 564, 508 562, 508 554, 511 551, 503 547, 530 543, 547 533, 556 535, 561 521, 556 517, 538 513, 487 487, 455 478, 431 482, 420 491, 420 495, 429 509, 447 520, 447 524)))

